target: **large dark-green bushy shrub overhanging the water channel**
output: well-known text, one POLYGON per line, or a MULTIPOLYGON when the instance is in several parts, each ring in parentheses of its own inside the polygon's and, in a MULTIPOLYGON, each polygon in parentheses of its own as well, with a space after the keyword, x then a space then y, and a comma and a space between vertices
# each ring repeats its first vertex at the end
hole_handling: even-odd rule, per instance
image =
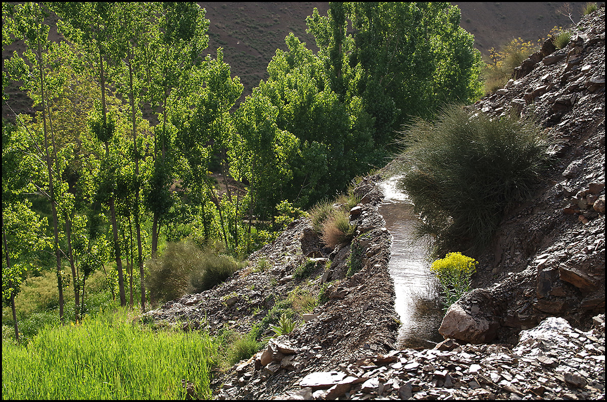
POLYGON ((416 236, 432 235, 435 255, 483 250, 504 211, 532 194, 547 161, 533 121, 456 106, 435 123, 416 121, 400 141, 399 185, 421 217, 416 236))

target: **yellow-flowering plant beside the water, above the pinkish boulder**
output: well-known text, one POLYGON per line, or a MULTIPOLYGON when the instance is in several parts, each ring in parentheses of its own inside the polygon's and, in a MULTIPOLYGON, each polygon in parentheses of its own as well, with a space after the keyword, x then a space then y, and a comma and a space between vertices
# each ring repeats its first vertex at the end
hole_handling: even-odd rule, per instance
POLYGON ((444 310, 470 290, 470 278, 477 265, 475 259, 461 253, 447 253, 443 259, 432 263, 430 271, 438 278, 445 298, 444 310))

